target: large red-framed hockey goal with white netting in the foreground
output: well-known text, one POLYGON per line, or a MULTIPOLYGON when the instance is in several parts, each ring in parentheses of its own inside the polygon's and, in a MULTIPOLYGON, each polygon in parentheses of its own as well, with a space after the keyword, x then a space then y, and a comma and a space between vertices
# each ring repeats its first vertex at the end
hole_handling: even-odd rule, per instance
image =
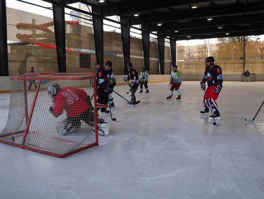
POLYGON ((9 114, 6 126, 0 133, 0 142, 59 157, 98 145, 94 73, 27 73, 10 77, 10 83, 9 114), (71 94, 62 93, 60 99, 55 97, 55 101, 52 101, 47 92, 52 85, 59 85, 62 92, 64 88, 71 89, 71 94), (78 104, 82 96, 74 95, 75 90, 87 94, 81 104, 83 107, 78 104), (78 103, 70 107, 73 101, 78 103), (60 106, 60 114, 54 115, 50 110, 54 105, 60 106), (69 118, 84 116, 81 113, 88 107, 89 111, 84 114, 89 122, 83 117, 76 117, 77 125, 65 133, 72 123, 69 118), (69 112, 70 116, 67 115, 69 112))

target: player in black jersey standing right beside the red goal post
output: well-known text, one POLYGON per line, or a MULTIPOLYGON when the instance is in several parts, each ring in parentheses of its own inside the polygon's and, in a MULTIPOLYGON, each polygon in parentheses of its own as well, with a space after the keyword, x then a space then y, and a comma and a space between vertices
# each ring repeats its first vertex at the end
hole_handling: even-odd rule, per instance
POLYGON ((110 71, 112 62, 107 61, 104 67, 100 67, 96 73, 96 94, 97 98, 97 111, 101 109, 101 112, 109 113, 106 110, 108 105, 108 95, 110 93, 109 85, 110 82, 110 71))

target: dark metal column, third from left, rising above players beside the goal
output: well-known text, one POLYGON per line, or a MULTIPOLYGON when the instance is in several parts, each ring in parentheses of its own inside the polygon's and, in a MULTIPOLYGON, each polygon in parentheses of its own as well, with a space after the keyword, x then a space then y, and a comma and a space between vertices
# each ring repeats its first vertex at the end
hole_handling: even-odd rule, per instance
POLYGON ((103 29, 103 18, 99 17, 102 15, 101 7, 95 7, 92 9, 92 13, 98 17, 92 17, 93 24, 93 37, 95 45, 95 56, 96 60, 104 64, 104 29, 103 29))

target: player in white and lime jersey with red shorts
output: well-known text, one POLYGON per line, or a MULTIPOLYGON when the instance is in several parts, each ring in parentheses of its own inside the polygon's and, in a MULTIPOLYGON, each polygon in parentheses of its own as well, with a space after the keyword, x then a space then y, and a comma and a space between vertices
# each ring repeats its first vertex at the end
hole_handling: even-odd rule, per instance
POLYGON ((181 94, 180 94, 180 90, 179 90, 179 87, 181 85, 181 76, 180 76, 180 72, 177 70, 177 68, 178 68, 177 65, 173 66, 173 70, 171 72, 172 76, 171 76, 171 82, 170 82, 170 95, 167 97, 167 99, 172 98, 174 89, 176 90, 176 94, 178 95, 176 100, 181 99, 181 94))

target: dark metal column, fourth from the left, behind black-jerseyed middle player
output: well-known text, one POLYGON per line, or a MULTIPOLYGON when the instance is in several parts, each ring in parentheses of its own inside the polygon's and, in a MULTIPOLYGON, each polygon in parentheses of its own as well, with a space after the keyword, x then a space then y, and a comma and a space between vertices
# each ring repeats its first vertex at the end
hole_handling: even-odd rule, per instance
POLYGON ((123 44, 123 57, 124 57, 124 71, 128 74, 127 64, 130 63, 130 27, 129 17, 120 16, 121 22, 121 36, 123 44))

